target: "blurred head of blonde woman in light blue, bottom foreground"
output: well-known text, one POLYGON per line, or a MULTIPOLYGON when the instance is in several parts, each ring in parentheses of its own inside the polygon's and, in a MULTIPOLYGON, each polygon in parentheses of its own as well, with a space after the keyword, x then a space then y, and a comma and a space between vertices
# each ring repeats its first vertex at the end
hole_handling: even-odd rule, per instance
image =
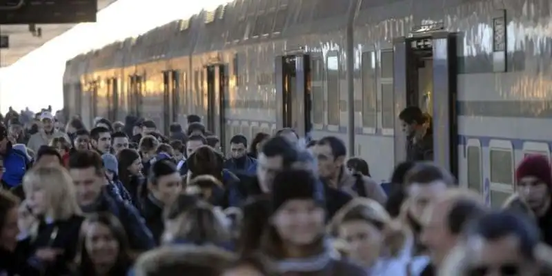
POLYGON ((339 210, 329 228, 345 242, 348 257, 365 267, 373 266, 382 254, 397 255, 404 244, 402 229, 372 199, 353 199, 339 210))

